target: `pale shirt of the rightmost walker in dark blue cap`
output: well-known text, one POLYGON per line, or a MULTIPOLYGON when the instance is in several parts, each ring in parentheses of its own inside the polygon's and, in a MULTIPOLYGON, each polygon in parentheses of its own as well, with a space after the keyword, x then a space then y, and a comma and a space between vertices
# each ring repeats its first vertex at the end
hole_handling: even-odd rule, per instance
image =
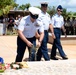
POLYGON ((59 16, 58 14, 55 14, 52 17, 52 25, 54 28, 61 28, 64 25, 64 19, 63 16, 59 16))

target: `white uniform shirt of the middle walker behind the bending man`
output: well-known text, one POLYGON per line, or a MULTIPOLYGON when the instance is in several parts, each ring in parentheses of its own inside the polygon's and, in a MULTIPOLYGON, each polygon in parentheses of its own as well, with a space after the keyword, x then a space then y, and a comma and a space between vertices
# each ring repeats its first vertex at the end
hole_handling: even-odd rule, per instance
POLYGON ((50 15, 47 12, 46 14, 44 12, 41 12, 39 14, 39 19, 43 22, 44 30, 48 30, 49 25, 51 24, 50 15))

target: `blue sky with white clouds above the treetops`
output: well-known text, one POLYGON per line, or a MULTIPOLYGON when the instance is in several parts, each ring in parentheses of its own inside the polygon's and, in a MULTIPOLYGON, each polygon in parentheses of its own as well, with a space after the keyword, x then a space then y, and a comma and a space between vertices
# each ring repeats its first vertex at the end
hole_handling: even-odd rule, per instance
MULTIPOLYGON (((31 6, 40 6, 40 3, 45 0, 16 0, 16 3, 19 5, 30 3, 31 6)), ((76 12, 76 0, 46 0, 48 6, 62 5, 67 11, 76 12)))

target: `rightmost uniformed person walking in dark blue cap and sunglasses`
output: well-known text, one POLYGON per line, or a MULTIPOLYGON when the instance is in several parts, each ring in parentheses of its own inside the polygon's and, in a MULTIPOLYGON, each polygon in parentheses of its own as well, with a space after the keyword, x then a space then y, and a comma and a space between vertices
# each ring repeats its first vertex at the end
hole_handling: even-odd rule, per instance
POLYGON ((60 42, 61 29, 63 30, 65 37, 66 37, 66 30, 64 28, 64 19, 63 19, 63 16, 61 15, 62 11, 63 11, 63 8, 61 5, 59 5, 57 7, 57 13, 52 17, 52 25, 54 27, 54 34, 56 37, 54 39, 54 43, 53 43, 52 50, 51 50, 51 57, 50 57, 53 60, 58 60, 58 58, 56 57, 56 49, 58 49, 63 59, 68 59, 68 57, 63 51, 63 48, 60 42))

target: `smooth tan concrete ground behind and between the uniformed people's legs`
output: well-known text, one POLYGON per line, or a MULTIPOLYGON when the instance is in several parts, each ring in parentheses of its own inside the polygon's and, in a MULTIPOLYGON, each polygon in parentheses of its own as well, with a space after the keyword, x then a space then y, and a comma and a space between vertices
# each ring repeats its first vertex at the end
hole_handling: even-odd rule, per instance
MULTIPOLYGON (((11 63, 15 61, 17 48, 16 41, 17 36, 0 36, 0 57, 4 58, 5 63, 11 63)), ((66 42, 68 41, 66 40, 66 42)), ((67 43, 62 44, 62 46, 69 59, 76 59, 76 44, 67 43)), ((52 45, 48 44, 49 53, 51 51, 51 47, 52 45)), ((25 51, 23 59, 25 58, 28 58, 28 50, 25 51)))

